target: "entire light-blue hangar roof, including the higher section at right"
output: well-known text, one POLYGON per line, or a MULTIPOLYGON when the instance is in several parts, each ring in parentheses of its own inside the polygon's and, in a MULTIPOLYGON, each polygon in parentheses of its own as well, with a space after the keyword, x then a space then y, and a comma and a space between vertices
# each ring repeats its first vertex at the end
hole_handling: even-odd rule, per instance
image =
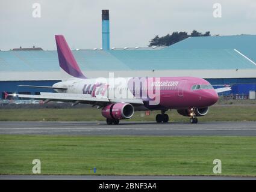
MULTIPOLYGON (((74 50, 73 54, 83 71, 256 69, 255 41, 256 35, 193 37, 164 49, 74 50)), ((0 51, 0 72, 58 70, 57 51, 0 51)))

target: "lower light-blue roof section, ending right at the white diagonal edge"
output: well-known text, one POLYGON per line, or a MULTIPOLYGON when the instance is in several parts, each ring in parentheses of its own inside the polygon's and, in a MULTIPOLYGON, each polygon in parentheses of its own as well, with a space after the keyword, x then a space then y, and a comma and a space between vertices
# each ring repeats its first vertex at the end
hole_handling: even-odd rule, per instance
MULTIPOLYGON (((234 49, 78 50, 83 71, 256 69, 234 49)), ((58 71, 57 51, 0 52, 0 71, 58 71)))

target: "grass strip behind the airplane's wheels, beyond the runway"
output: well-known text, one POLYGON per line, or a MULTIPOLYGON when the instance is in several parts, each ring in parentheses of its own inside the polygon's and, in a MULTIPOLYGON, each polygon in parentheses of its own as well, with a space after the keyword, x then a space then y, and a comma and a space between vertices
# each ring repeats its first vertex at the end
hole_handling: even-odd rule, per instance
MULTIPOLYGON (((145 116, 136 112, 133 118, 125 121, 155 121, 158 111, 145 116)), ((188 117, 179 115, 176 110, 167 112, 170 121, 188 121, 188 117)), ((95 108, 71 109, 1 109, 0 121, 105 121, 101 110, 95 108)), ((256 121, 255 105, 248 106, 212 106, 209 113, 199 117, 199 121, 256 121)))

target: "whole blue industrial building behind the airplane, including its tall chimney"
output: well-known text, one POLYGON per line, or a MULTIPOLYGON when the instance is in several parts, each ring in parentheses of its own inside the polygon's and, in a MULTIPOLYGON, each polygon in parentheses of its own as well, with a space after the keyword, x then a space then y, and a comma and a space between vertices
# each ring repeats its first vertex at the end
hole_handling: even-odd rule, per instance
MULTIPOLYGON (((87 77, 108 77, 109 72, 115 77, 196 76, 214 86, 233 85, 226 95, 256 91, 256 35, 190 37, 169 47, 110 49, 108 10, 102 10, 102 49, 73 50, 73 55, 87 77)), ((0 51, 2 98, 4 91, 42 91, 17 85, 51 86, 65 79, 56 50, 0 51)))

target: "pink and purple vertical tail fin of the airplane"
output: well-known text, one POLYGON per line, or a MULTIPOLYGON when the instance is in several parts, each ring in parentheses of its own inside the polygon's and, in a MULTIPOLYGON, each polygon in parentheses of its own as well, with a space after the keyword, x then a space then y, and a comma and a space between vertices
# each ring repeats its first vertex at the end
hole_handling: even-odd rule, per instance
POLYGON ((86 79, 86 76, 82 73, 78 67, 75 58, 69 49, 69 46, 63 35, 55 35, 57 52, 58 52, 58 62, 60 67, 66 71, 70 76, 86 79))

